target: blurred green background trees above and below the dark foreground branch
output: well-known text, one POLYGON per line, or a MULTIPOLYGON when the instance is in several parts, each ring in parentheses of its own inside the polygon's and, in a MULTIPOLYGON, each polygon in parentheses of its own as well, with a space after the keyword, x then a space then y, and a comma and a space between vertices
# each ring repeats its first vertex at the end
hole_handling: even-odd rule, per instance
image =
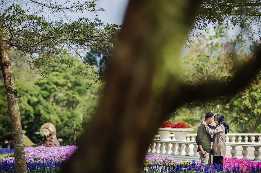
MULTIPOLYGON (((251 59, 242 35, 228 38, 224 29, 214 29, 190 44, 190 51, 181 59, 181 78, 191 84, 211 79, 228 81, 233 77, 233 65, 242 65, 251 59), (236 64, 237 63, 237 64, 236 64)), ((196 133, 206 112, 223 114, 230 133, 254 133, 261 123, 260 75, 244 91, 231 98, 220 97, 205 103, 191 103, 172 114, 171 122, 186 122, 196 133)))

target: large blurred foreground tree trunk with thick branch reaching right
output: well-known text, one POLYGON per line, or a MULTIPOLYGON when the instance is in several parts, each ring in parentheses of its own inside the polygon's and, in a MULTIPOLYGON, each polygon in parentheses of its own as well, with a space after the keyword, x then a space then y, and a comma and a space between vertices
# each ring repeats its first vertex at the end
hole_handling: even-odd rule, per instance
POLYGON ((255 77, 259 59, 236 69, 229 82, 190 86, 178 79, 180 51, 199 4, 130 1, 96 116, 61 172, 138 173, 168 113, 184 103, 236 93, 255 77))

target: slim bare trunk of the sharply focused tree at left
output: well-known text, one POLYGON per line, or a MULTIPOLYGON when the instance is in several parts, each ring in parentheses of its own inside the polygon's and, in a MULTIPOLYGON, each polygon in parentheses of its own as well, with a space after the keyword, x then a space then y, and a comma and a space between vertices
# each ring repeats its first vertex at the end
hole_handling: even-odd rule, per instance
MULTIPOLYGON (((1 14, 0 14, 1 15, 1 14)), ((0 65, 5 82, 6 96, 8 102, 8 111, 11 119, 15 171, 17 173, 26 173, 26 161, 24 155, 23 133, 21 125, 20 111, 17 101, 17 91, 14 86, 14 79, 12 76, 11 62, 9 59, 6 42, 0 42, 0 65)))

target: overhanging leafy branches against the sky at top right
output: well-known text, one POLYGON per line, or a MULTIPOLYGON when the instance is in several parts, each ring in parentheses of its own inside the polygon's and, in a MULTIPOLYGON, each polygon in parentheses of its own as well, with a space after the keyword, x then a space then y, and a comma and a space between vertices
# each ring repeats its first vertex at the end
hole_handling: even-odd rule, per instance
MULTIPOLYGON (((260 2, 255 0, 203 1, 191 27, 190 36, 201 36, 201 32, 206 31, 211 24, 213 28, 237 28, 240 34, 257 35, 260 40, 260 7, 260 2)), ((188 42, 191 42, 191 37, 188 37, 188 42)))

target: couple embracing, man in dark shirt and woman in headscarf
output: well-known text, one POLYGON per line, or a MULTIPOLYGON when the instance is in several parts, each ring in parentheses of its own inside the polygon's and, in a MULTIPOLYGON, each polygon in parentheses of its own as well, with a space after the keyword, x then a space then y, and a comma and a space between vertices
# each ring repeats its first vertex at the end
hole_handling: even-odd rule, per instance
POLYGON ((213 165, 220 165, 220 168, 223 168, 223 156, 226 155, 225 134, 228 132, 229 126, 224 122, 222 114, 214 116, 212 112, 206 113, 205 120, 198 127, 196 136, 201 169, 203 164, 207 164, 210 167, 211 155, 213 155, 213 165), (212 124, 213 121, 215 121, 215 125, 212 124), (213 135, 213 139, 211 135, 213 135), (213 142, 212 148, 211 142, 213 142))

